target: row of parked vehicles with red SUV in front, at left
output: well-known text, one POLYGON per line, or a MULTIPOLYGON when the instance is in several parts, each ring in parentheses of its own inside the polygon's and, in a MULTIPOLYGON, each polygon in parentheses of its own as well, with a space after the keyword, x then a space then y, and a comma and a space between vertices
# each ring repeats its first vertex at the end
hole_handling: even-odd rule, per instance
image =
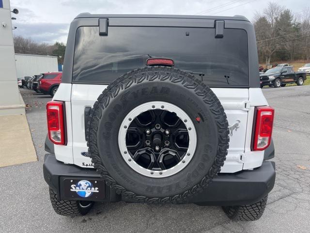
POLYGON ((54 96, 62 81, 62 72, 49 72, 17 79, 18 87, 54 96))

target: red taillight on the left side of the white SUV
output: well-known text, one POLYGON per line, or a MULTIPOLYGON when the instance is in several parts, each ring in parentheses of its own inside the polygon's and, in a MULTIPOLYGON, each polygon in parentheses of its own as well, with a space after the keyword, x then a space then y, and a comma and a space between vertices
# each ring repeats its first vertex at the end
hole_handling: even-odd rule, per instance
POLYGON ((47 102, 48 138, 54 144, 65 145, 64 102, 47 102))

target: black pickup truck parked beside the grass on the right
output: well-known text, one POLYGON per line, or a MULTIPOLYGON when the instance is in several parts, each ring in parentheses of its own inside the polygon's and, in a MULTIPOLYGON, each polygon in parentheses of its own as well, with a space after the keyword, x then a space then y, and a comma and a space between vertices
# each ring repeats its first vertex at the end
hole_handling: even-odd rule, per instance
POLYGON ((261 87, 280 87, 285 86, 287 83, 296 83, 298 86, 301 86, 306 79, 307 74, 305 71, 294 72, 292 66, 274 67, 260 75, 261 87))

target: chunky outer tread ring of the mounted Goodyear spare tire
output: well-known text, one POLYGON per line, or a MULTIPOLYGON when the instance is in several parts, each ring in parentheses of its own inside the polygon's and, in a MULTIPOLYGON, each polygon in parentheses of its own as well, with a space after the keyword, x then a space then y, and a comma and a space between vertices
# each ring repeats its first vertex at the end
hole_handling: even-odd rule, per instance
POLYGON ((202 81, 195 79, 193 75, 172 67, 143 67, 130 71, 123 76, 110 83, 109 86, 100 94, 97 101, 94 103, 90 112, 89 121, 86 127, 86 140, 90 157, 94 168, 101 174, 101 177, 108 185, 116 190, 117 194, 121 194, 125 200, 134 202, 149 202, 149 203, 183 203, 186 202, 196 193, 202 190, 212 181, 212 179, 220 171, 221 166, 227 155, 229 147, 229 129, 228 121, 224 108, 213 91, 206 86, 202 81), (109 105, 111 99, 115 98, 121 89, 129 88, 133 83, 152 82, 154 80, 170 81, 178 85, 183 85, 188 89, 193 89, 197 96, 201 96, 215 116, 218 129, 218 146, 217 156, 214 165, 209 169, 205 177, 200 183, 197 183, 189 190, 182 194, 178 194, 166 198, 148 198, 146 196, 137 195, 132 191, 126 190, 122 185, 119 185, 113 177, 109 175, 101 161, 100 154, 97 148, 97 130, 99 120, 102 117, 102 112, 109 105))

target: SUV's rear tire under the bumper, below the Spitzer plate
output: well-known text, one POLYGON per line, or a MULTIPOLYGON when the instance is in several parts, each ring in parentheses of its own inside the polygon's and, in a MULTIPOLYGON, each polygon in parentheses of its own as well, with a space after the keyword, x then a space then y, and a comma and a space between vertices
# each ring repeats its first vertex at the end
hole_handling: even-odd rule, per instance
POLYGON ((54 211, 62 216, 86 215, 93 207, 93 201, 59 200, 57 193, 49 188, 49 198, 54 211))

